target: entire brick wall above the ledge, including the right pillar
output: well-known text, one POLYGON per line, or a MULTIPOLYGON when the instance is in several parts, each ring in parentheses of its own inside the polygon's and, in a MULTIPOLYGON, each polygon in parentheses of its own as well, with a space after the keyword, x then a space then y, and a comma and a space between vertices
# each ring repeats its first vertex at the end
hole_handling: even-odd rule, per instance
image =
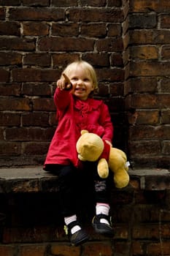
POLYGON ((96 68, 133 166, 169 167, 169 1, 0 1, 0 166, 42 165, 66 64, 96 68))

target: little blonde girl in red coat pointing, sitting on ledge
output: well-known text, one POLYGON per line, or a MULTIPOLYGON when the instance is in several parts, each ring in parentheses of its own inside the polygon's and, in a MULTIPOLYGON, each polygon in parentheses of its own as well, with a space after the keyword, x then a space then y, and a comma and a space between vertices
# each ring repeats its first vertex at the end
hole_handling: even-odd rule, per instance
POLYGON ((96 163, 85 162, 80 168, 76 150, 82 129, 96 133, 112 146, 109 110, 102 100, 93 99, 96 89, 96 72, 88 62, 74 61, 63 70, 54 94, 58 126, 45 159, 44 169, 58 176, 64 222, 75 246, 89 238, 77 218, 78 187, 84 183, 82 170, 93 181, 96 215, 92 225, 97 233, 113 236, 109 221, 109 178, 98 176, 96 163))

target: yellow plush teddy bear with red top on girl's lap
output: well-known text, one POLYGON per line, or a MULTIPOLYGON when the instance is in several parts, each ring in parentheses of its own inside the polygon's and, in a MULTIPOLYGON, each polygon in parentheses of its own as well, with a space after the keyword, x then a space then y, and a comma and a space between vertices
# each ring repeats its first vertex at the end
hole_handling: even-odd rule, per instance
POLYGON ((76 148, 80 161, 98 161, 97 170, 101 178, 107 178, 110 169, 114 173, 115 187, 122 189, 128 185, 128 162, 123 151, 109 146, 105 140, 87 130, 81 131, 76 148))

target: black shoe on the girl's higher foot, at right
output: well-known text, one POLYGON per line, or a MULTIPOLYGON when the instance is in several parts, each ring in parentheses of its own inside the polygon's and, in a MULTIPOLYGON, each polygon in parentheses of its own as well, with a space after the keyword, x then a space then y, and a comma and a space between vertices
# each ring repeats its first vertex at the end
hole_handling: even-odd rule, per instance
POLYGON ((92 225, 96 233, 100 233, 104 236, 114 236, 114 230, 112 228, 109 216, 105 214, 96 215, 95 217, 93 217, 92 225), (107 221, 109 222, 109 225, 105 223, 101 223, 100 222, 101 219, 107 219, 107 221))

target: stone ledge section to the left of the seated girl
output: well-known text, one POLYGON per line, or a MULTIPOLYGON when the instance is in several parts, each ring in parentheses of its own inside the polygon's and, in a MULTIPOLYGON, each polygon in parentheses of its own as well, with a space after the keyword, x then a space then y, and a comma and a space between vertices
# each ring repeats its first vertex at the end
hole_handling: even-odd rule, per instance
POLYGON ((0 193, 57 192, 57 176, 39 167, 0 168, 0 193))

